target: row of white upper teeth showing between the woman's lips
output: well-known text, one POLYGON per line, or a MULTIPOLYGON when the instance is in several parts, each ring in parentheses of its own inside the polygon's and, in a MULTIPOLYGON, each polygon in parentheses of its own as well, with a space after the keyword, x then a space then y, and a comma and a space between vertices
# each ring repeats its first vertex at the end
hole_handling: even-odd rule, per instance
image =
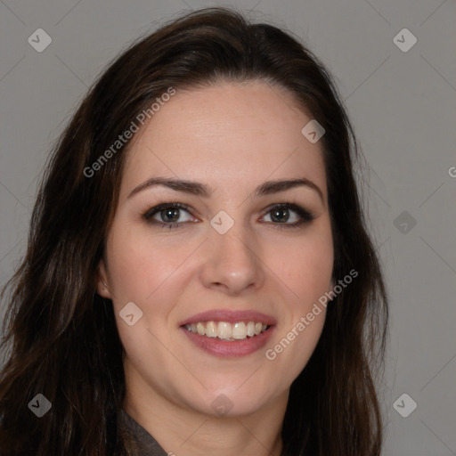
POLYGON ((198 322, 183 325, 185 330, 207 338, 236 341, 254 338, 269 330, 270 326, 263 322, 198 322))

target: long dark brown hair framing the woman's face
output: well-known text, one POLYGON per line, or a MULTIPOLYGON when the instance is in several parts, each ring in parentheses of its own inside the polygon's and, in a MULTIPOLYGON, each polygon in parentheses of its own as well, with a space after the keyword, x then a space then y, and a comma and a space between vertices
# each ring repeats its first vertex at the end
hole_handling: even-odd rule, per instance
POLYGON ((169 87, 257 79, 288 90, 324 127, 332 276, 338 283, 349 271, 358 273, 328 306, 322 337, 291 386, 282 454, 380 454, 374 374, 385 349, 387 291, 354 180, 360 153, 352 126, 329 73, 297 39, 272 25, 252 24, 239 12, 208 8, 174 20, 122 53, 54 147, 27 254, 2 293, 8 297, 1 346, 3 456, 126 454, 129 444, 119 426, 124 352, 112 302, 95 287, 132 140, 96 172, 87 168, 169 87), (28 410, 37 394, 52 403, 40 419, 28 410))

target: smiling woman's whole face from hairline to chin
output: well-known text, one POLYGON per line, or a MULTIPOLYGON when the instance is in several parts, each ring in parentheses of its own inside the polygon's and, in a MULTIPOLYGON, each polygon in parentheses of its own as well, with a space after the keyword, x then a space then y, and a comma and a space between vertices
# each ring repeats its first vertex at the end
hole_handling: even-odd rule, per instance
POLYGON ((321 335, 314 305, 333 266, 310 120, 277 86, 219 83, 177 91, 134 138, 99 293, 138 401, 212 415, 286 403, 321 335))

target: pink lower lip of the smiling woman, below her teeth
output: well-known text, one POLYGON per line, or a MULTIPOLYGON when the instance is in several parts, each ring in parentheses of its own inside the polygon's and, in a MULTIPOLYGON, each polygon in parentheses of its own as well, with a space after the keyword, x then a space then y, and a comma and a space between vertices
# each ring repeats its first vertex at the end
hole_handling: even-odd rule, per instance
POLYGON ((266 345, 267 341, 273 335, 274 326, 271 326, 265 332, 254 336, 253 338, 245 338, 243 340, 223 340, 220 338, 208 338, 208 336, 200 336, 196 332, 191 332, 181 328, 187 338, 195 346, 203 349, 208 354, 214 354, 221 358, 238 358, 240 356, 247 356, 259 350, 266 345))

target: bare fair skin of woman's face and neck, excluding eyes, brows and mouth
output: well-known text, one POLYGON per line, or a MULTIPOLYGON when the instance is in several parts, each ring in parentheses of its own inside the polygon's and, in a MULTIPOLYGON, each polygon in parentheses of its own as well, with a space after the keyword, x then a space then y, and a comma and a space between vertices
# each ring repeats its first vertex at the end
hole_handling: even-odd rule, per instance
MULTIPOLYGON (((320 338, 324 308, 273 361, 265 350, 332 288, 321 143, 301 134, 309 120, 277 86, 220 82, 177 91, 128 151, 98 292, 113 301, 126 352, 124 409, 176 456, 281 452, 289 387, 320 338), (128 198, 157 176, 205 183, 213 193, 203 198, 159 185, 128 198), (265 181, 302 177, 320 188, 322 198, 306 186, 253 195, 265 181), (180 211, 179 227, 142 218, 160 203, 175 202, 191 208, 180 211), (269 207, 283 202, 315 219, 284 226, 300 218, 290 210, 285 223, 274 221, 269 207), (223 235, 210 224, 220 210, 234 221, 223 235), (133 326, 118 314, 129 302, 143 313, 133 326), (272 340, 238 358, 220 358, 191 344, 179 322, 220 308, 273 315, 278 324, 272 340), (222 394, 232 410, 218 416, 211 403, 222 394)), ((159 213, 154 219, 166 223, 159 213)))

